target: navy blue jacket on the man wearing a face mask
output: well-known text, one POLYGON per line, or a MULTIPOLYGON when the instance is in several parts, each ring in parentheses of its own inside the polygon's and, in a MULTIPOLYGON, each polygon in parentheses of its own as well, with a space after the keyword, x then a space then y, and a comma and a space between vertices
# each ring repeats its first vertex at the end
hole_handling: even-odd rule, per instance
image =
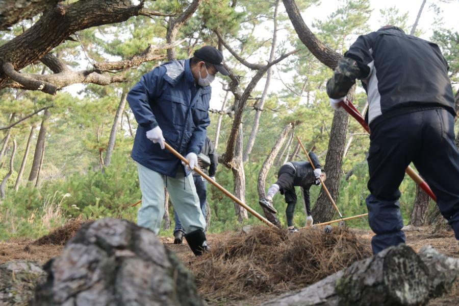
POLYGON ((210 98, 210 86, 196 85, 189 59, 168 62, 144 74, 127 94, 139 124, 132 158, 148 169, 175 177, 180 159, 152 143, 146 132, 159 126, 166 142, 176 151, 183 156, 190 152, 197 155, 210 123, 210 98))

